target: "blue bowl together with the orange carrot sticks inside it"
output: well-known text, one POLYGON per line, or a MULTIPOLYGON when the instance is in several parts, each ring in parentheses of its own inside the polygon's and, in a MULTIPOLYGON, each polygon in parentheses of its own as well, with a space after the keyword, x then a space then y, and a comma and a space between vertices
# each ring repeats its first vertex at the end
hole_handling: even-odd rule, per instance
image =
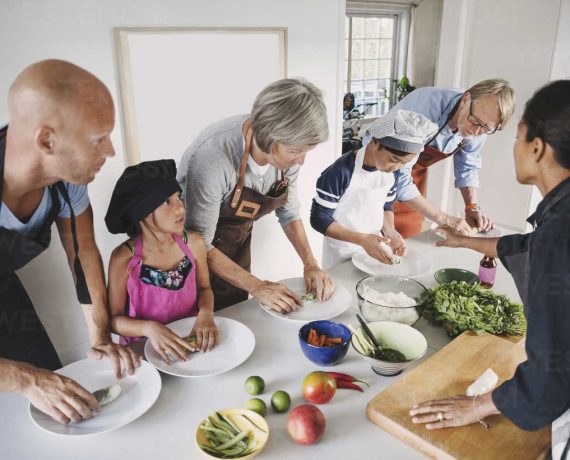
POLYGON ((299 344, 307 359, 319 366, 334 366, 346 356, 352 333, 337 321, 311 321, 299 329, 299 344))

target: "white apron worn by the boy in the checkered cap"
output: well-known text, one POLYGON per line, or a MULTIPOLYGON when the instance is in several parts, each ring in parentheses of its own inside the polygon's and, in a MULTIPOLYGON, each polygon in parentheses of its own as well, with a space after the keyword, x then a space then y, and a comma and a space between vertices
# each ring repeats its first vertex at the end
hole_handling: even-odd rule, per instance
MULTIPOLYGON (((356 154, 350 184, 340 198, 333 219, 350 230, 378 235, 384 223, 384 204, 394 185, 394 173, 362 169, 364 151, 356 154)), ((352 155, 352 154, 348 154, 352 155)), ((325 236, 323 240, 323 269, 349 260, 360 246, 325 236)))

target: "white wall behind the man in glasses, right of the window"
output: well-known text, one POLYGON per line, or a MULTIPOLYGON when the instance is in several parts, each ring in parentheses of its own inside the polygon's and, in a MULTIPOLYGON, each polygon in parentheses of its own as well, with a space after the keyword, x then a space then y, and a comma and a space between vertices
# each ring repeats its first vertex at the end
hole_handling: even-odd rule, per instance
MULTIPOLYGON (((436 84, 466 88, 502 77, 516 92, 517 109, 511 122, 489 136, 483 149, 479 192, 484 211, 513 230, 525 227, 531 192, 515 179, 516 124, 525 101, 550 78, 560 5, 560 0, 444 0, 436 84)), ((568 49, 565 40, 562 49, 568 49)), ((461 196, 452 189, 452 181, 444 180, 443 170, 450 169, 450 162, 445 163, 430 171, 428 198, 445 205, 444 183, 450 187, 447 209, 461 214, 461 196)))

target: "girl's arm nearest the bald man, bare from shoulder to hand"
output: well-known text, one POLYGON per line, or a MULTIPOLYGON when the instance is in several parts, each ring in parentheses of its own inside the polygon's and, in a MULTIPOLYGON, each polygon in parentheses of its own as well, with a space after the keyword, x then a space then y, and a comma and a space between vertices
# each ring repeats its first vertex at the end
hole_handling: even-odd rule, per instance
POLYGON ((132 254, 121 244, 111 254, 109 261, 108 298, 111 310, 111 330, 123 337, 148 337, 153 348, 166 363, 170 363, 168 354, 186 360, 186 350, 194 351, 182 338, 164 324, 129 318, 125 314, 128 301, 127 280, 128 265, 132 254))

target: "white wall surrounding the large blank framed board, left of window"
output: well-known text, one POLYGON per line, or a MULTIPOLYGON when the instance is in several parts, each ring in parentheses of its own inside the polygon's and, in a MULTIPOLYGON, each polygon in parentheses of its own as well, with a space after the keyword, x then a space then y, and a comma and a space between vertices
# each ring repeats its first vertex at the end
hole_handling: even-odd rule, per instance
MULTIPOLYGON (((27 65, 46 58, 72 61, 92 71, 117 101, 112 28, 117 26, 287 27, 290 76, 303 76, 325 93, 331 138, 307 157, 299 184, 303 217, 314 252, 321 238, 308 225, 308 211, 318 174, 340 151, 341 53, 344 0, 2 0, 0 28, 0 121, 7 120, 10 82, 27 65)), ((199 65, 197 63, 196 65, 199 65)), ((255 69, 255 56, 244 53, 245 68, 255 69)), ((236 69, 228 69, 228 78, 236 69)), ((113 132, 117 151, 94 183, 90 197, 95 232, 104 263, 122 241, 107 232, 103 217, 116 179, 125 165, 120 117, 113 132)), ((190 143, 191 139, 188 139, 190 143)), ((262 278, 299 276, 301 264, 268 216, 256 224, 253 270, 262 278)), ((87 337, 65 257, 57 236, 51 247, 20 275, 64 362, 82 357, 87 337)))

